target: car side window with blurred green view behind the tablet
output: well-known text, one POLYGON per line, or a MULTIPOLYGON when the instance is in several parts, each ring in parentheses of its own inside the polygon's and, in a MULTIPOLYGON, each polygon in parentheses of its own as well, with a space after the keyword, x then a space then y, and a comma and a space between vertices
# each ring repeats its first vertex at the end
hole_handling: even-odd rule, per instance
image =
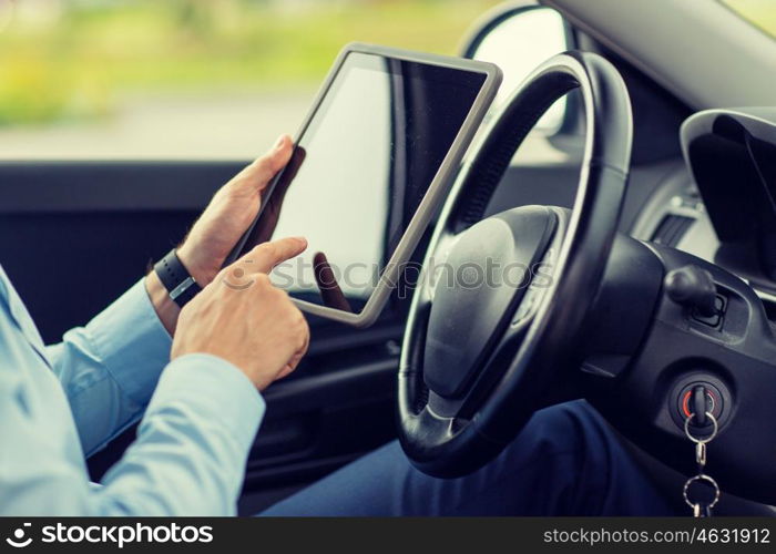
POLYGON ((0 0, 0 160, 244 160, 347 42, 453 54, 496 0, 0 0))

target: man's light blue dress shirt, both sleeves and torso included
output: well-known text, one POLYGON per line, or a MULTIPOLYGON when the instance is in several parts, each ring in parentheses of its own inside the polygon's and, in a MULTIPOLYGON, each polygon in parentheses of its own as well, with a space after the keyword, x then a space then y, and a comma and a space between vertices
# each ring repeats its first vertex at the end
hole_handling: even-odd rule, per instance
POLYGON ((229 515, 265 404, 229 362, 170 362, 141 280, 44 346, 0 267, 0 515, 229 515), (85 458, 137 439, 90 483, 85 458))

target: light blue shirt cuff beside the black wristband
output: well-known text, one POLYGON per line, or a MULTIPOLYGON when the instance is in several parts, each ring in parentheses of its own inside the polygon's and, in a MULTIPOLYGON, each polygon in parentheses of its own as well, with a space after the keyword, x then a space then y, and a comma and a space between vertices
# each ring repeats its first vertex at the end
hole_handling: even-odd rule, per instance
POLYGON ((86 332, 122 391, 144 406, 170 361, 172 338, 139 280, 86 325, 86 332))

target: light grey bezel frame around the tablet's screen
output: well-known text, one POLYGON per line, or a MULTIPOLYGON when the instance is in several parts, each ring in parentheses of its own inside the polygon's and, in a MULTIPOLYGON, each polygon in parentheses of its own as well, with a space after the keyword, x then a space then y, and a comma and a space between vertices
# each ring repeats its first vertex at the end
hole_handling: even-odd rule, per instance
MULTIPOLYGON (((431 218, 439 211, 442 202, 447 197, 447 194, 449 193, 450 187, 452 186, 452 181, 456 175, 456 171, 458 170, 459 164, 463 158, 463 154, 471 144, 471 141, 474 137, 480 123, 482 122, 483 117, 486 116, 486 113, 488 112, 488 109, 490 107, 491 103, 493 102, 493 99, 496 98, 496 92, 498 91, 499 84, 501 83, 501 70, 497 65, 488 62, 353 42, 350 44, 347 44, 337 55, 334 65, 329 70, 328 75, 326 75, 324 83, 321 84, 320 89, 318 90, 315 96, 315 100, 313 101, 310 111, 305 116, 305 120, 299 126, 299 130, 294 135, 295 145, 298 144, 299 138, 307 131, 310 122, 313 121, 313 117, 315 117, 316 113, 318 112, 318 109, 320 107, 324 98, 326 96, 329 89, 331 88, 331 84, 339 74, 339 70, 345 63, 345 60, 347 59, 348 54, 354 52, 379 55, 382 58, 390 58, 395 60, 409 61, 415 63, 437 65, 441 68, 477 72, 484 74, 486 76, 480 92, 474 99, 474 102, 472 102, 469 113, 463 120, 463 124, 461 125, 458 134, 456 135, 456 138, 452 141, 452 144, 450 145, 447 155, 442 160, 442 163, 439 165, 439 170, 431 179, 428 191, 426 192, 422 201, 418 205, 418 208, 412 218, 410 219, 410 223, 407 226, 407 229, 405 230, 404 235, 401 236, 401 239, 399 240, 394 253, 386 263, 385 268, 380 273, 378 283, 375 286, 375 289, 371 291, 369 299, 364 305, 361 311, 359 311, 358 314, 353 314, 336 308, 329 308, 327 306, 309 302, 306 300, 300 300, 292 296, 292 300, 294 301, 294 304, 307 314, 319 316, 326 319, 333 319, 335 321, 340 321, 356 327, 367 327, 374 324, 379 317, 380 312, 382 311, 382 308, 385 307, 386 302, 390 297, 391 291, 397 286, 401 267, 410 259, 412 253, 415 252, 415 248, 418 246, 418 242, 423 235, 423 230, 431 222, 431 218)), ((280 171, 273 178, 273 182, 268 185, 268 196, 263 198, 262 207, 267 205, 267 198, 274 193, 275 184, 280 178, 282 174, 283 171, 280 171)), ((227 258, 226 264, 234 261, 238 253, 242 253, 243 248, 245 247, 245 242, 251 235, 251 232, 256 225, 256 222, 258 222, 258 219, 262 217, 262 214, 263 209, 259 209, 259 213, 254 219, 254 222, 251 224, 251 227, 241 237, 239 242, 227 258)))

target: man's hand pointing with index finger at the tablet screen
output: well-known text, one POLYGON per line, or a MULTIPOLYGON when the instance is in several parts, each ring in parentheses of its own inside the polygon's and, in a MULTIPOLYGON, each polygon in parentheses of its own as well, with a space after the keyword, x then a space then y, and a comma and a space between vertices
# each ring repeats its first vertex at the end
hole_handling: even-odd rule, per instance
POLYGON ((224 268, 181 310, 172 359, 195 352, 218 356, 259 390, 290 373, 307 351, 309 329, 267 274, 306 247, 304 238, 264 243, 224 268))

